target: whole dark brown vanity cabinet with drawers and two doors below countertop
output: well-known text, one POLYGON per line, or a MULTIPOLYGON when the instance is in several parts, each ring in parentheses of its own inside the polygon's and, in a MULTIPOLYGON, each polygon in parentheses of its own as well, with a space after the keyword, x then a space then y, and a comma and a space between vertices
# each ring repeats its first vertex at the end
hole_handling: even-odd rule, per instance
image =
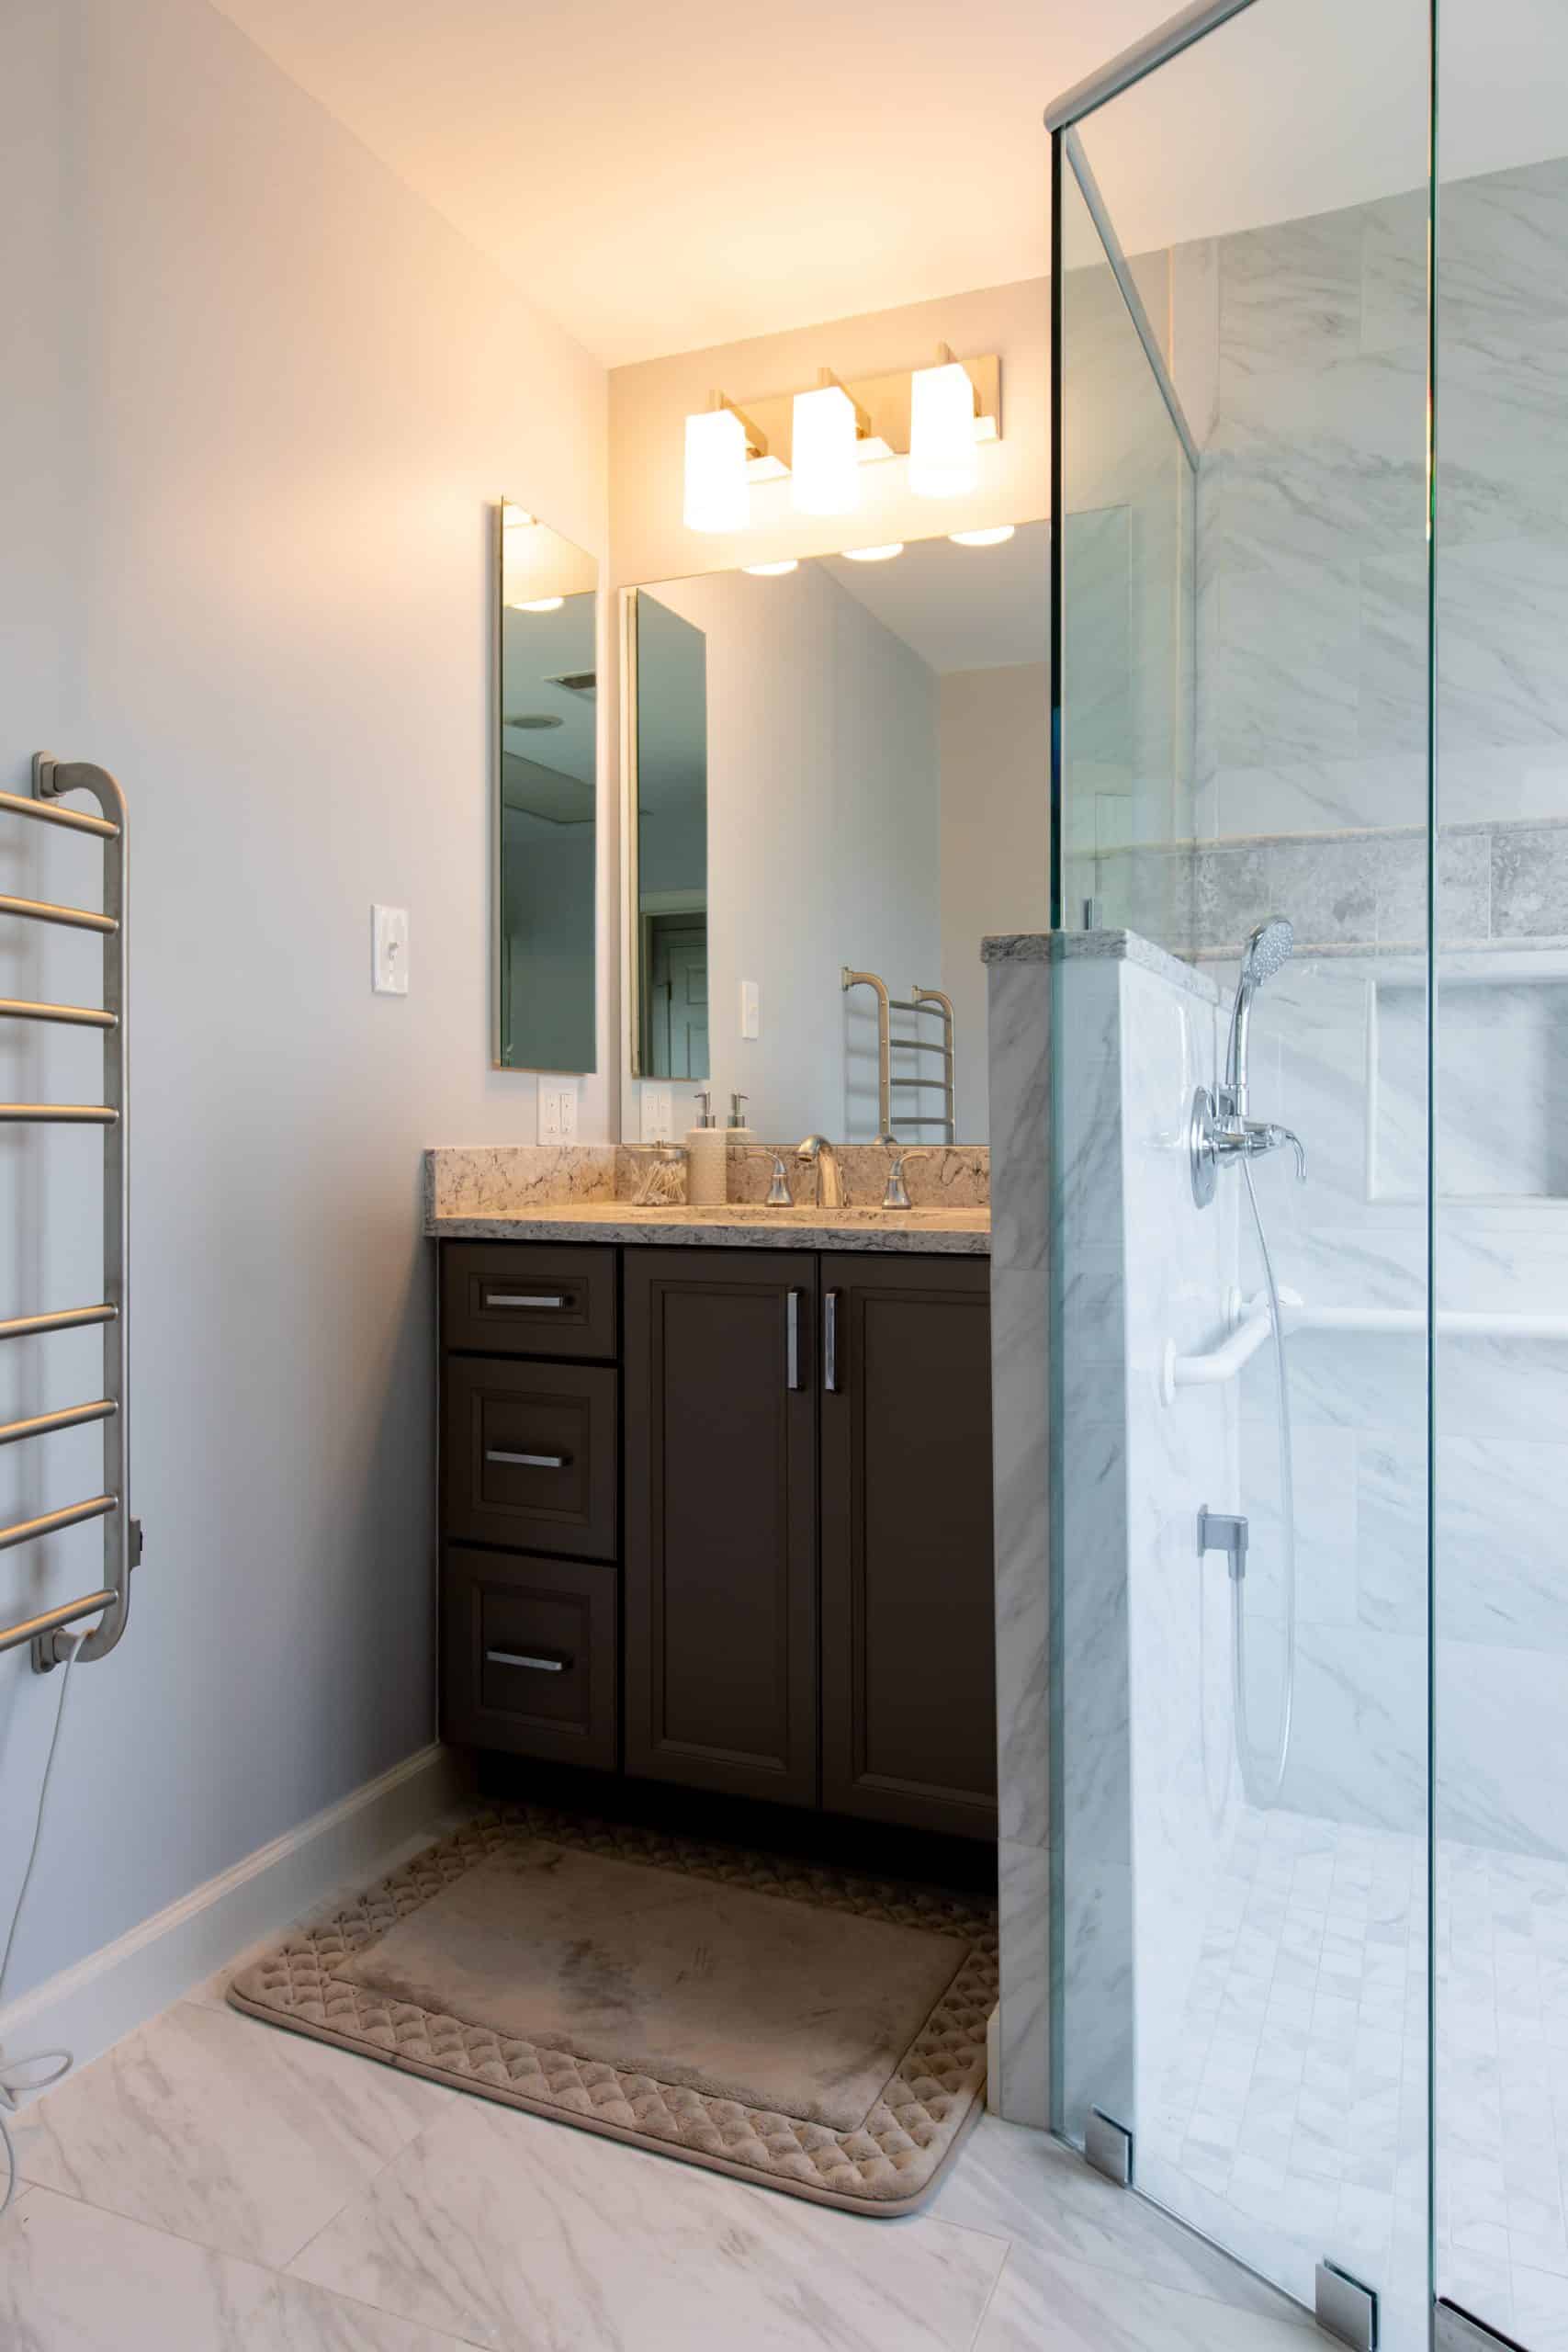
POLYGON ((987 1261, 442 1242, 442 1729, 994 1837, 987 1261))

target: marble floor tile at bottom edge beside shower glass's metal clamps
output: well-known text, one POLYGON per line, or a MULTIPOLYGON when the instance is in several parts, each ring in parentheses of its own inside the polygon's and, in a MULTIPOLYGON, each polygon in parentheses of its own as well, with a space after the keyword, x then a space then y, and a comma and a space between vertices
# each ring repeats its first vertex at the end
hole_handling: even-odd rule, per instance
POLYGON ((1305 2312, 1265 2319, 1013 2244, 973 2352, 1302 2352, 1309 2340, 1305 2312))

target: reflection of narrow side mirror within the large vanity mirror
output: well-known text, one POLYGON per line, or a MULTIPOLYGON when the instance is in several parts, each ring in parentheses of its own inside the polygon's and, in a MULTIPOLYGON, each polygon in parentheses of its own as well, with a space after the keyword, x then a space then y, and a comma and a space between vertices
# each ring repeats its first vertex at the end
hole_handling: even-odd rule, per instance
POLYGON ((708 635, 651 590, 628 600, 642 1077, 708 1070, 708 635))

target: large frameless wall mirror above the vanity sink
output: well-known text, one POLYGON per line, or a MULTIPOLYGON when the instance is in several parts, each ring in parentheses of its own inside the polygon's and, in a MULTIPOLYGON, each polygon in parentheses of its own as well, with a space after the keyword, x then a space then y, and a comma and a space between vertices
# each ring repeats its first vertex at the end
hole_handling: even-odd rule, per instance
POLYGON ((922 988, 954 1009, 957 1141, 987 1141, 980 941, 1048 924, 1051 534, 987 539, 628 595, 632 1075, 679 1082, 684 1042, 715 1108, 743 1091, 759 1136, 875 1141, 877 995, 842 985, 875 971, 910 1040, 893 1136, 947 1138, 940 1014, 898 1009, 922 988), (682 985, 684 1028, 665 1014, 682 985))

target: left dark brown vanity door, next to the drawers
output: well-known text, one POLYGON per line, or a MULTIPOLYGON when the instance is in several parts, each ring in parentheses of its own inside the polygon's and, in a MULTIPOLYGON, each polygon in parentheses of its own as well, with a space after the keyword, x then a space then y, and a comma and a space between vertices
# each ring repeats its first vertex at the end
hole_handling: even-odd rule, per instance
POLYGON ((813 1341, 806 1251, 625 1251, 632 1773, 816 1804, 813 1341))

